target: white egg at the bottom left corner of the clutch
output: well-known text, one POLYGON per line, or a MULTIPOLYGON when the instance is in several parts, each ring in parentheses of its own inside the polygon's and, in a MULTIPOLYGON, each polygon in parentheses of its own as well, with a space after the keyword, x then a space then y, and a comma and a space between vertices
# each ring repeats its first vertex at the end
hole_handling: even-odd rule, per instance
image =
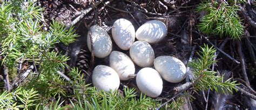
POLYGON ((92 73, 92 84, 99 90, 117 90, 120 79, 116 71, 105 65, 98 65, 92 73))

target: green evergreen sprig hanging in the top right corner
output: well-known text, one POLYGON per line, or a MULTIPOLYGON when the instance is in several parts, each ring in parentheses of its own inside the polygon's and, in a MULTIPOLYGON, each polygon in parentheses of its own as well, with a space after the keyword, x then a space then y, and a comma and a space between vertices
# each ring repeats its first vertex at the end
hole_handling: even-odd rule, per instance
POLYGON ((240 39, 244 35, 244 28, 237 10, 238 7, 235 4, 231 6, 227 2, 200 3, 197 11, 205 11, 207 15, 200 19, 199 30, 205 34, 240 39))

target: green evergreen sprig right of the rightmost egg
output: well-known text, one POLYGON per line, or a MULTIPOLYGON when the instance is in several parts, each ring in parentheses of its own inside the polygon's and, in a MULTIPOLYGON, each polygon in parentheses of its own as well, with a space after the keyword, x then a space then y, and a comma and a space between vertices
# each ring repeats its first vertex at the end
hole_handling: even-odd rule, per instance
POLYGON ((194 75, 198 80, 194 88, 197 91, 210 90, 222 92, 222 93, 233 93, 236 81, 231 81, 231 78, 224 81, 224 75, 218 76, 217 73, 210 69, 210 66, 215 63, 214 53, 216 50, 213 47, 205 45, 201 47, 201 51, 198 53, 199 59, 193 60, 189 65, 193 68, 194 75))

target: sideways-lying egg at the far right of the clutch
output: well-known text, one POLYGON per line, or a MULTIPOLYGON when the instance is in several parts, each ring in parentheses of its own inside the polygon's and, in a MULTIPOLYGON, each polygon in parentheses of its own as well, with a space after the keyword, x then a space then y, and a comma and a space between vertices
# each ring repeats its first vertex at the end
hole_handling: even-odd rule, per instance
POLYGON ((170 83, 179 83, 185 79, 186 66, 178 58, 159 56, 154 59, 154 67, 161 77, 170 83))

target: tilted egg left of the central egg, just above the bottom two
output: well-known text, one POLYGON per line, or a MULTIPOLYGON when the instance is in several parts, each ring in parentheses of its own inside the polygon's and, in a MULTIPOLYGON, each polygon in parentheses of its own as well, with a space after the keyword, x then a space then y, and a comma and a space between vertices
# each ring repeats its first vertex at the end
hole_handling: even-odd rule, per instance
POLYGON ((129 80, 129 74, 134 74, 135 66, 126 54, 112 51, 109 56, 110 67, 119 75, 120 80, 129 80))

